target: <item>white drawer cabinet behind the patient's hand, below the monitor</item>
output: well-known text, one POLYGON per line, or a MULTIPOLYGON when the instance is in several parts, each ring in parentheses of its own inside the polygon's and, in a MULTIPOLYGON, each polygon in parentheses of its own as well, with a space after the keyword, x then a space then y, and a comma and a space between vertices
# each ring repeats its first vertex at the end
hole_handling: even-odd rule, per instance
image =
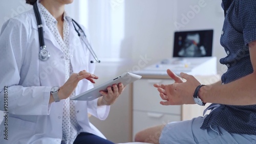
MULTIPOLYGON (((202 84, 215 83, 220 80, 218 75, 195 76, 202 84)), ((171 84, 174 80, 169 77, 160 78, 157 76, 143 77, 133 83, 133 139, 137 132, 155 125, 166 124, 202 116, 207 106, 182 105, 163 106, 159 102, 159 96, 154 83, 171 84)), ((192 95, 191 95, 192 97, 192 95)))

